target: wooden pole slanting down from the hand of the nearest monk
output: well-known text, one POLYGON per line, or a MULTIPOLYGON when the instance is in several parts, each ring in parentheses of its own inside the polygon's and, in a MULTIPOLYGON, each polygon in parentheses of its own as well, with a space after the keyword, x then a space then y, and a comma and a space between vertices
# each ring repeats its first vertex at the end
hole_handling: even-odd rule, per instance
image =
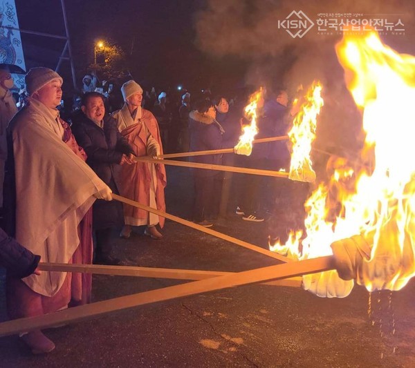
POLYGON ((216 238, 221 238, 221 239, 226 240, 228 242, 231 242, 233 244, 243 246, 244 248, 250 249, 252 251, 256 251, 258 253, 268 255, 268 257, 275 258, 276 260, 280 260, 282 262, 289 262, 289 259, 284 257, 283 255, 279 255, 278 253, 268 251, 268 249, 261 248, 260 246, 250 244, 248 242, 244 242, 243 240, 233 238, 232 236, 225 235, 223 233, 219 233, 219 231, 214 231, 214 230, 209 229, 207 227, 195 224, 194 222, 184 220, 181 217, 178 217, 178 216, 175 216, 175 215, 170 215, 169 213, 166 213, 166 212, 163 212, 163 211, 159 211, 158 209, 153 209, 152 207, 145 206, 144 204, 141 204, 139 202, 129 200, 128 198, 125 198, 125 197, 121 197, 121 195, 118 195, 118 194, 112 194, 112 197, 113 197, 114 200, 118 200, 119 202, 129 204, 130 206, 134 206, 134 207, 137 207, 138 209, 143 209, 143 210, 149 211, 151 213, 156 213, 156 215, 168 218, 169 220, 173 220, 175 222, 178 222, 179 224, 191 227, 192 229, 203 231, 203 233, 207 233, 207 234, 216 236, 216 238))

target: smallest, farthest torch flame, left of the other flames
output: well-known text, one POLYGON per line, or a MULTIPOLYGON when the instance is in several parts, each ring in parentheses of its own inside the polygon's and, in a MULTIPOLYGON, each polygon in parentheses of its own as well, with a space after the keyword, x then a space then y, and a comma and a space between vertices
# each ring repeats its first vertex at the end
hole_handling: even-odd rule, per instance
POLYGON ((252 153, 252 142, 255 135, 258 134, 257 116, 258 109, 264 103, 263 88, 253 93, 250 96, 249 104, 245 107, 245 116, 250 121, 250 124, 246 124, 242 127, 243 134, 239 137, 239 142, 234 146, 234 151, 239 155, 249 156, 252 153))

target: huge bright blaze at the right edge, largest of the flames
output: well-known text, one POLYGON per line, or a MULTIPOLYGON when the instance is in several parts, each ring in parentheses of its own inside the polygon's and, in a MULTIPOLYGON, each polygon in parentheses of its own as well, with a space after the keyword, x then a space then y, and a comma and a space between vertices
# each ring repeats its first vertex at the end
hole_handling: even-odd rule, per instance
MULTIPOLYGON (((288 246, 272 249, 313 258, 331 254, 333 242, 359 235, 369 252, 356 270, 356 281, 369 291, 399 290, 415 273, 415 57, 399 55, 376 32, 344 35, 336 51, 363 113, 361 164, 331 159, 330 183, 306 203, 306 238, 300 242, 297 235, 288 246), (362 164, 368 157, 369 167, 362 164)), ((320 273, 306 276, 304 286, 320 296, 347 296, 353 280, 320 273), (322 291, 322 280, 334 289, 322 291)))

